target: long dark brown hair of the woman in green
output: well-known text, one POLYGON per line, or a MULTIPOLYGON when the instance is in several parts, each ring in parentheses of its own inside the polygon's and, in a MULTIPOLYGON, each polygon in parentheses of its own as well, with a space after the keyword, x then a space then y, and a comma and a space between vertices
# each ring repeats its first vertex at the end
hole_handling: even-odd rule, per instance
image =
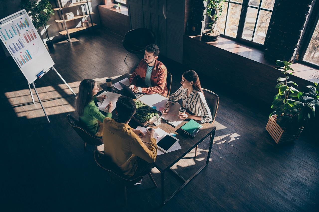
POLYGON ((79 93, 77 99, 78 115, 83 116, 85 106, 93 100, 93 88, 95 80, 82 80, 79 86, 79 93))

